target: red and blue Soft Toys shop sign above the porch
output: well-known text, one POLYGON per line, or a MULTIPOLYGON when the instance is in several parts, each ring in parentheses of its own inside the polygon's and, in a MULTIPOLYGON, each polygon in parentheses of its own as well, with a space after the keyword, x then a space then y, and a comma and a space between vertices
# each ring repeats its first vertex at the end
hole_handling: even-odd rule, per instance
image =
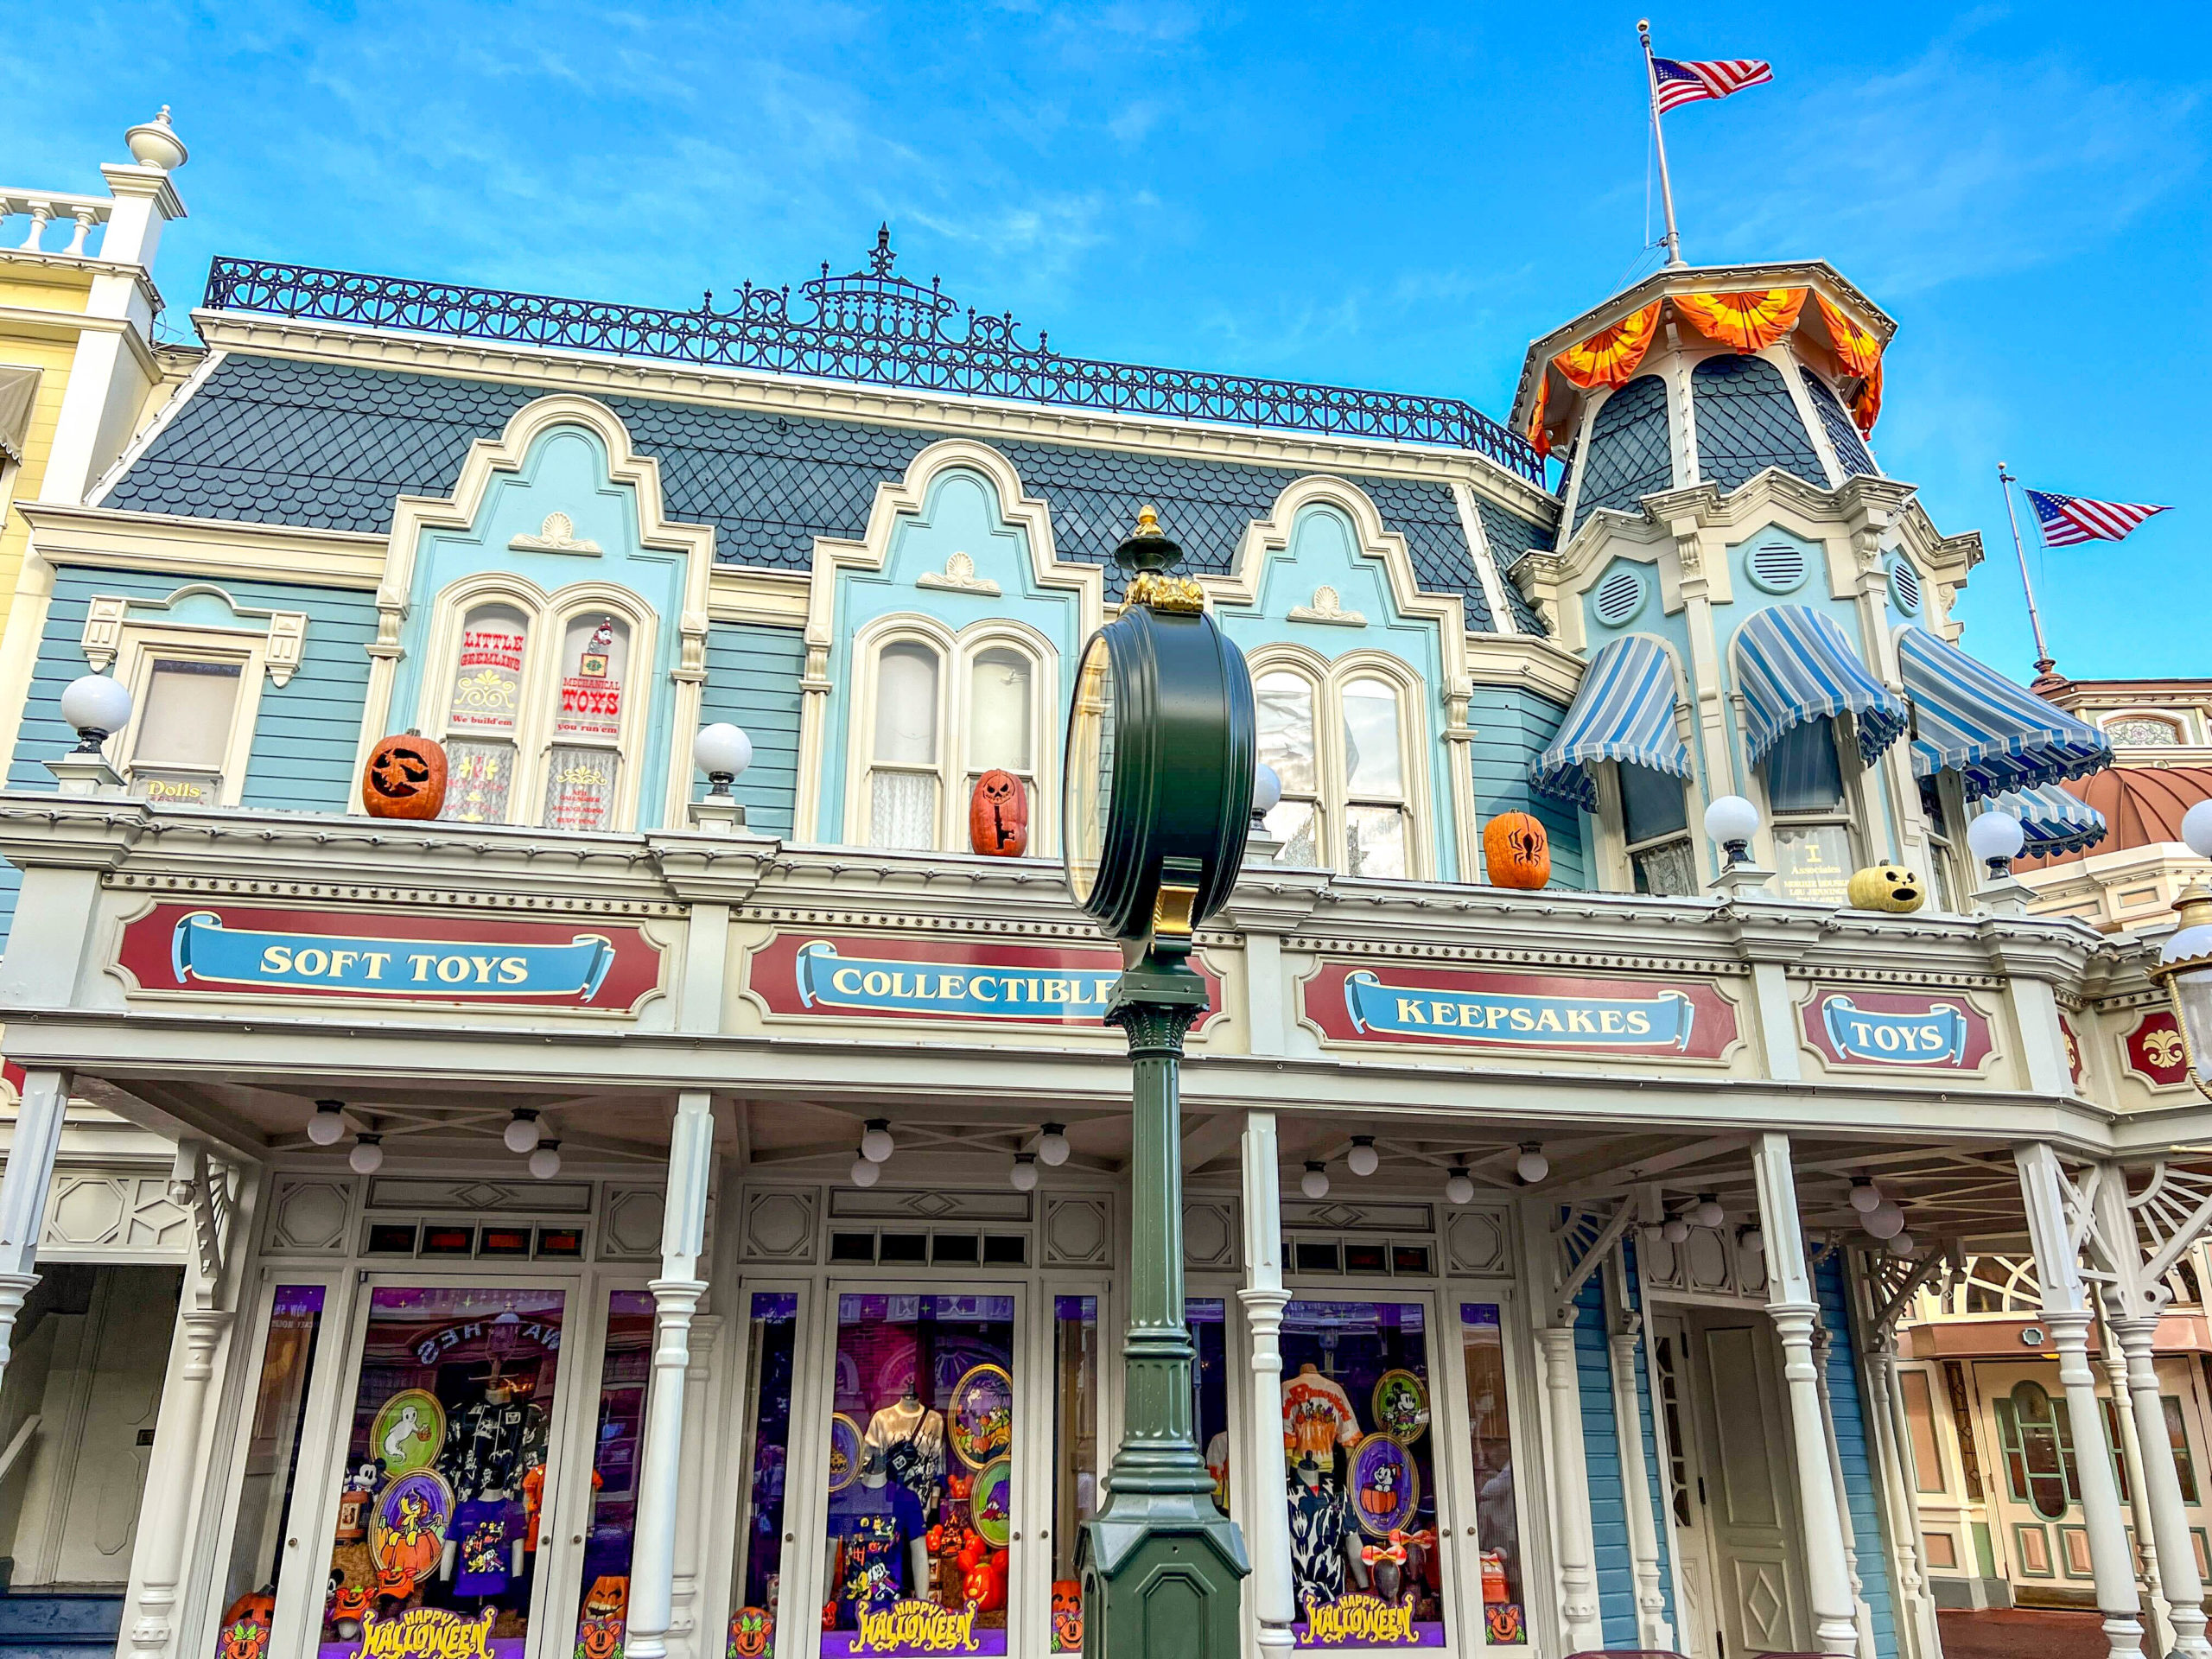
POLYGON ((155 905, 115 953, 139 991, 635 1013, 661 947, 630 925, 155 905))

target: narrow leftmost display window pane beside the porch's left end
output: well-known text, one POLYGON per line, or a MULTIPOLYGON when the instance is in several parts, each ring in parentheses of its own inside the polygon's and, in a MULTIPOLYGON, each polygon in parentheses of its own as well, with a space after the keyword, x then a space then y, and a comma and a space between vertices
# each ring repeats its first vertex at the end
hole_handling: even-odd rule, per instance
POLYGON ((217 1659, 268 1652, 276 1579, 283 1575, 283 1517, 292 1511, 301 1425, 307 1420, 307 1378, 323 1336, 323 1296, 321 1285, 276 1285, 270 1305, 261 1383, 243 1425, 246 1473, 239 1480, 239 1517, 230 1528, 230 1562, 223 1568, 217 1659))

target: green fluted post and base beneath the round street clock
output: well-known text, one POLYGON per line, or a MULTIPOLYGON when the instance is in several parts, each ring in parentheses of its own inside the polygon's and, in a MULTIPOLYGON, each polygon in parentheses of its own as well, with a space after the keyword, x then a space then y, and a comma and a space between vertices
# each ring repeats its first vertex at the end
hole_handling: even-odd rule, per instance
MULTIPOLYGON (((1183 947, 1188 949, 1188 945, 1183 947)), ((1106 1509, 1084 1524, 1088 1659, 1232 1659, 1243 1646, 1237 1584, 1252 1571, 1237 1524, 1214 1509, 1190 1420, 1197 1349, 1183 1323, 1183 1033, 1206 1013, 1206 980, 1152 951, 1121 975, 1106 1022, 1128 1033, 1130 1321, 1121 1447, 1106 1509)))

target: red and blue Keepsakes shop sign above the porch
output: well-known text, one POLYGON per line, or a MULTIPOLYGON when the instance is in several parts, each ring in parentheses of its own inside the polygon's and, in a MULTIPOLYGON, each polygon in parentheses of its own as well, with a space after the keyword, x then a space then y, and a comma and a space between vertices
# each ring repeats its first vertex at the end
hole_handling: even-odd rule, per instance
POLYGON ((1323 962, 1301 995, 1332 1042, 1719 1060, 1739 1037, 1736 1006, 1701 980, 1323 962))

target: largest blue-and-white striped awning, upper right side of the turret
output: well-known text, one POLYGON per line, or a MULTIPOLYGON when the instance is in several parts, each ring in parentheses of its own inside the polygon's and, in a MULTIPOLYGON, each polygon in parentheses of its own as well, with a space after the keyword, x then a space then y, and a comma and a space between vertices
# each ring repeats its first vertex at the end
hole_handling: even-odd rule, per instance
POLYGON ((1913 776, 1958 772, 1966 799, 2079 779, 2112 763, 2095 726, 2015 686, 1927 628, 1898 628, 1898 668, 1913 699, 1913 776))

